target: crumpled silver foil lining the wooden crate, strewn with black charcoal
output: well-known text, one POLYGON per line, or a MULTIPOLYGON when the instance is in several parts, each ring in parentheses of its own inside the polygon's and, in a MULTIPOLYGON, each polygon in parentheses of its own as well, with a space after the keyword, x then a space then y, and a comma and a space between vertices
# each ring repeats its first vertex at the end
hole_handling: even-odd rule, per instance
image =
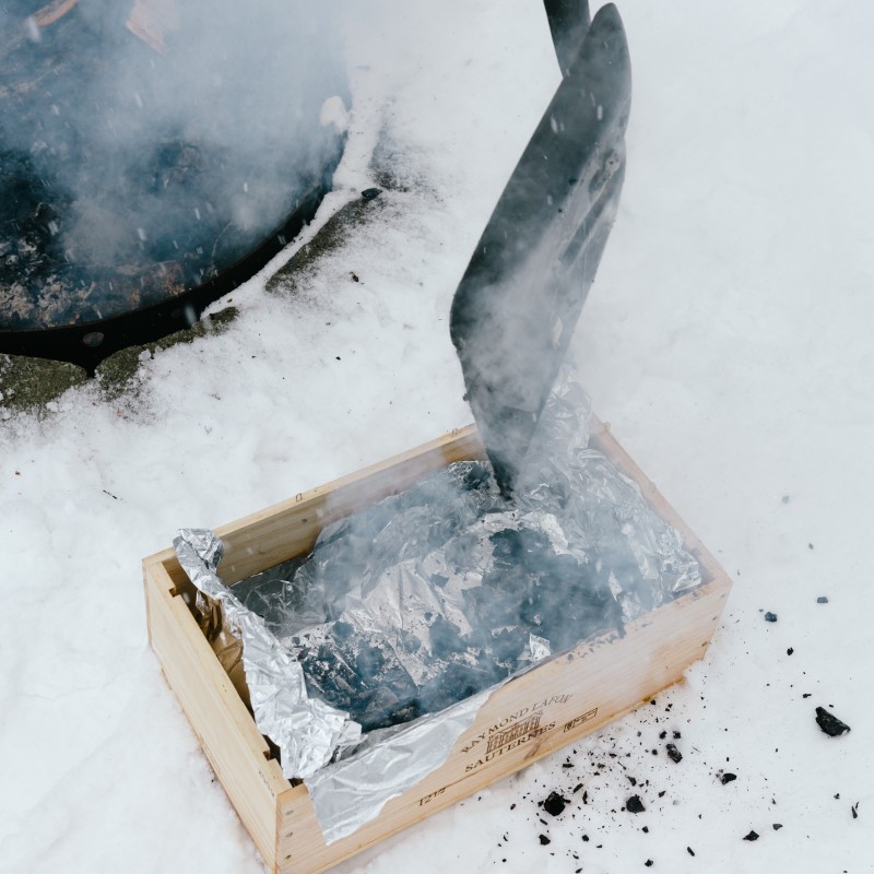
POLYGON ((459 462, 233 591, 217 539, 180 533, 180 563, 241 637, 256 722, 306 779, 328 842, 439 767, 501 683, 700 582, 678 533, 588 448, 588 415, 566 366, 512 503, 487 462, 459 462))

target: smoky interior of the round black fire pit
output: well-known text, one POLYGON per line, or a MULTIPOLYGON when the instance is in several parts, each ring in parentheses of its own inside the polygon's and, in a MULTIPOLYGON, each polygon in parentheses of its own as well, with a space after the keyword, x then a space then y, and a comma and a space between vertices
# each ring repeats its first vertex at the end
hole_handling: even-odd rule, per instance
POLYGON ((324 4, 16 0, 0 34, 0 330, 211 279, 339 154, 349 98, 324 4))

